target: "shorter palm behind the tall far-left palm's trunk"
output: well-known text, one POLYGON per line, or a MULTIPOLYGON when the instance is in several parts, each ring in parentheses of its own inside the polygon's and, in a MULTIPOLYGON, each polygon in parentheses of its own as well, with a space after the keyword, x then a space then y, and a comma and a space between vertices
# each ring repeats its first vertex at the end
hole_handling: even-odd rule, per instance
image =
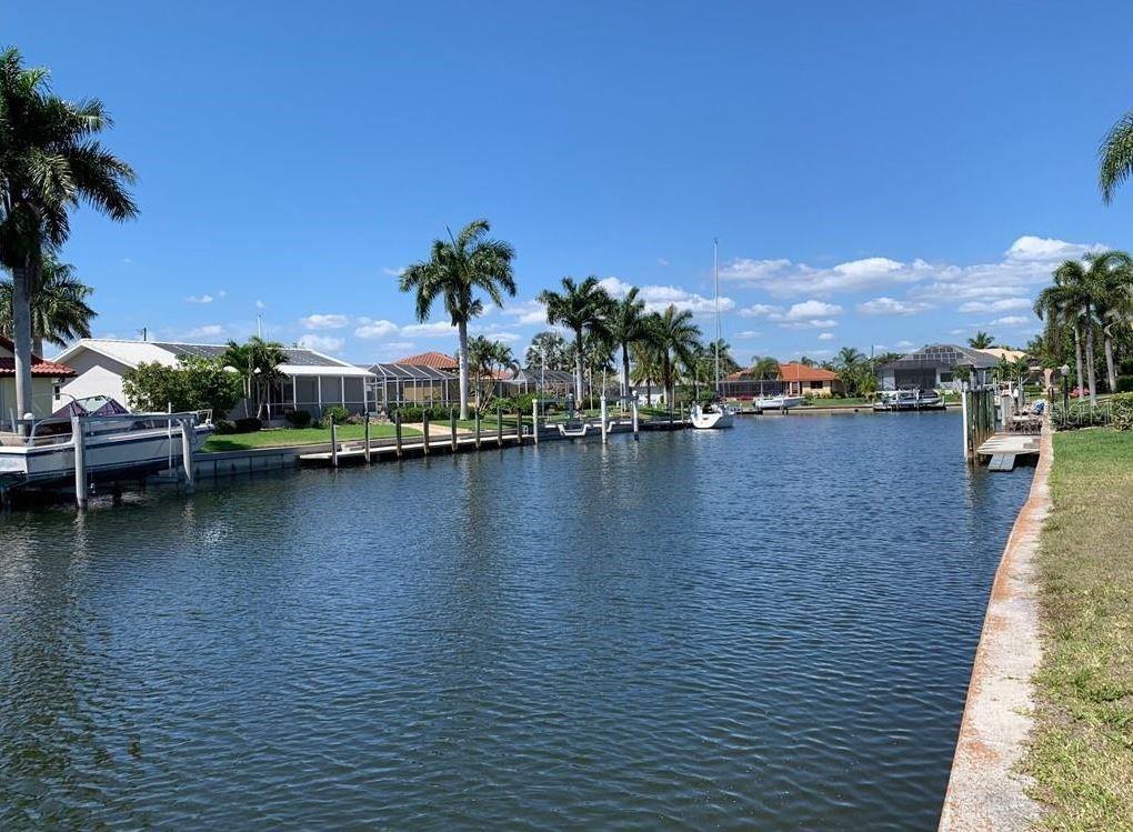
MULTIPOLYGON (((32 287, 32 353, 42 356, 43 343, 66 347, 76 338, 91 337, 91 321, 97 313, 87 305, 94 289, 80 282, 75 266, 60 263, 54 252, 43 255, 40 282, 32 287)), ((10 280, 0 280, 0 332, 12 333, 10 280)))

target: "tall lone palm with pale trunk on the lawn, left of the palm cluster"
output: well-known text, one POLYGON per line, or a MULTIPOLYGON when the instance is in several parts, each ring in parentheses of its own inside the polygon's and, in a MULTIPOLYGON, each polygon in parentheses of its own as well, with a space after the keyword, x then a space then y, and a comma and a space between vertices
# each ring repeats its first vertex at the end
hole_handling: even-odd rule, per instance
POLYGON ((417 292, 417 320, 424 323, 433 303, 444 298, 444 311, 457 328, 460 343, 460 418, 468 418, 468 322, 484 312, 476 290, 484 291, 496 306, 503 296, 516 296, 511 262, 516 249, 503 240, 488 239, 487 220, 472 220, 455 237, 433 240, 429 258, 414 263, 401 274, 401 291, 417 292))

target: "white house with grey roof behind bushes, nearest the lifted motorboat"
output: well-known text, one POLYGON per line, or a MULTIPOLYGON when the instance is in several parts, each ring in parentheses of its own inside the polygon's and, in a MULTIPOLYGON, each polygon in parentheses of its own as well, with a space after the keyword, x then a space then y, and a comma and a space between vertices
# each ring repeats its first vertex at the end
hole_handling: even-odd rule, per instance
MULTIPOLYGON (((84 338, 56 357, 56 362, 74 367, 76 376, 61 385, 51 409, 71 397, 90 396, 105 396, 128 405, 122 391, 127 370, 146 363, 174 366, 182 356, 219 358, 224 349, 216 343, 84 338)), ((269 391, 270 421, 281 419, 288 410, 306 410, 317 417, 332 405, 363 413, 373 404, 367 384, 373 376, 367 370, 303 347, 286 347, 283 355, 286 360, 279 366, 283 379, 269 391)), ((228 415, 242 416, 244 405, 240 402, 228 415)), ((255 413, 255 402, 249 404, 249 409, 255 413)))

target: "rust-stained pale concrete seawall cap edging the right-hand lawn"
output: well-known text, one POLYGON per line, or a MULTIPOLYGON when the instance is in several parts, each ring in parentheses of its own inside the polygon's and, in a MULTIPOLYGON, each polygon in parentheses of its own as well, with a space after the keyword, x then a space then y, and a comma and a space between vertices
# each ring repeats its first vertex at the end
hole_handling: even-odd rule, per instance
POLYGON ((1031 677, 1041 657, 1034 558, 1050 511, 1053 462, 1047 423, 1031 491, 991 585, 940 815, 942 832, 1025 830, 1040 813, 1025 795, 1028 779, 1014 769, 1033 727, 1031 677))

